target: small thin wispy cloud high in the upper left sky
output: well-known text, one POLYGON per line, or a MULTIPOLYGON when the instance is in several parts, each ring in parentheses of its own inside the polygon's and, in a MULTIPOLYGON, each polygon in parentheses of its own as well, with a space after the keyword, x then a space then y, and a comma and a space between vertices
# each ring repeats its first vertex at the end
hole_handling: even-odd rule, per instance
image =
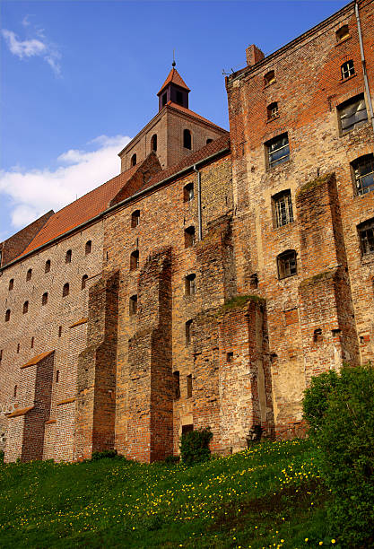
MULTIPOLYGON (((26 15, 22 20, 22 25, 26 29, 30 27, 29 15, 26 15)), ((48 63, 53 72, 59 76, 61 67, 59 60, 61 54, 56 45, 48 41, 42 29, 33 29, 34 35, 38 38, 19 39, 13 30, 3 29, 2 34, 4 40, 13 56, 24 59, 27 57, 41 57, 48 63)))

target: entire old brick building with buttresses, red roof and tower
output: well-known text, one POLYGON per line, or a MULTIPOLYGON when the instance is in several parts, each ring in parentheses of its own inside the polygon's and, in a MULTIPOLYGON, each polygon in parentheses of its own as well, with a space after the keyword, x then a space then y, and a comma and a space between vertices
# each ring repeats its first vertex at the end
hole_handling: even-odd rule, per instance
POLYGON ((374 359, 373 67, 372 0, 250 46, 230 135, 173 67, 121 173, 0 244, 7 461, 290 438, 311 376, 374 359))

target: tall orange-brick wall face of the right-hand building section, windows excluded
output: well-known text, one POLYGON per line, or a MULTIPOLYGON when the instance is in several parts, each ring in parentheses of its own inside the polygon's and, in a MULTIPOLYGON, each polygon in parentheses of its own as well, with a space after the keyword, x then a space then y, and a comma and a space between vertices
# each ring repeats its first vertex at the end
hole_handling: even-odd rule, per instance
MULTIPOLYGON (((361 2, 360 13, 373 93, 372 2, 361 2)), ((361 362, 373 358, 374 264, 372 256, 362 257, 357 231, 374 215, 373 194, 357 196, 350 165, 373 152, 373 130, 353 4, 230 76, 227 91, 238 291, 266 298, 274 419, 278 436, 288 437, 302 429, 300 400, 313 373, 339 368, 344 360, 354 365, 359 348, 361 362), (344 24, 349 37, 337 42, 335 31, 344 24), (340 67, 349 59, 355 74, 343 80, 340 67), (269 71, 274 81, 266 84, 269 71), (361 93, 369 119, 342 135, 337 107, 361 93), (274 101, 278 115, 268 118, 274 101), (289 160, 270 168, 266 143, 284 133, 289 160), (300 189, 328 174, 335 183, 314 188, 302 205, 300 189), (285 190, 294 221, 276 227, 274 196, 285 190), (280 280, 276 258, 288 249, 296 251, 297 274, 280 280), (315 341, 316 329, 322 335, 315 341)))

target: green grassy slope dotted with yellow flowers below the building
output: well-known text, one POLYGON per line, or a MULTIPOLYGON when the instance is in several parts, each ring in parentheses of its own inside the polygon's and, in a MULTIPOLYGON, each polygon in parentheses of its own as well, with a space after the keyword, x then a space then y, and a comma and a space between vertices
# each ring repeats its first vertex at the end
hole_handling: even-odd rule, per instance
POLYGON ((189 468, 10 464, 0 466, 0 547, 331 547, 327 497, 307 440, 189 468))

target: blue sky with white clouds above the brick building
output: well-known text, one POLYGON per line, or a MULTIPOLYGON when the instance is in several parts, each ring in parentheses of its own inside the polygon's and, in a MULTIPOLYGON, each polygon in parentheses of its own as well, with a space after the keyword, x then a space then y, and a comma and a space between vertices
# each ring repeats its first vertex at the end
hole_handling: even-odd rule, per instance
POLYGON ((118 173, 117 153, 157 112, 173 48, 190 108, 229 129, 222 69, 345 4, 3 0, 0 241, 118 173))

